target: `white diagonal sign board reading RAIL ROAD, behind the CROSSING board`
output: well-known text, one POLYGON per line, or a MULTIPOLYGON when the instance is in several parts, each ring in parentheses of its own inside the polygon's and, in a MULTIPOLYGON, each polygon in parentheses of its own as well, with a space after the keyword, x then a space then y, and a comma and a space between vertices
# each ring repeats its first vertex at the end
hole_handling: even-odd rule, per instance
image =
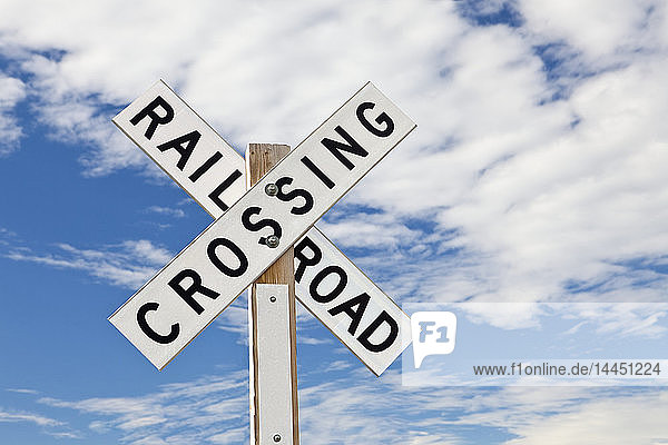
MULTIPOLYGON (((369 85, 365 88, 367 87, 369 85)), ((373 88, 375 90, 375 87, 373 88)), ((358 121, 375 137, 389 136, 394 130, 393 121, 383 112, 376 117, 375 122, 370 122, 365 118, 365 112, 371 108, 373 105, 367 102, 357 107, 358 121)), ((405 119, 412 125, 410 129, 414 128, 414 123, 407 117, 405 119)), ((157 81, 118 113, 114 122, 215 219, 246 192, 244 158, 164 81, 157 81)), ((353 165, 341 151, 360 156, 364 155, 364 149, 356 145, 343 128, 336 127, 334 131, 341 139, 347 141, 347 145, 326 139, 323 140, 323 146, 348 170, 352 170, 353 165)), ((332 179, 308 157, 304 156, 301 161, 322 184, 332 189, 334 186, 332 179)), ((299 255, 295 255, 297 299, 371 372, 376 376, 382 374, 411 343, 410 318, 315 226, 295 244, 295 250, 296 254, 302 254, 302 263, 299 263, 299 255), (317 261, 314 260, 315 257, 317 261), (313 263, 317 264, 313 265, 313 263), (346 294, 358 296, 355 297, 356 301, 360 301, 357 306, 363 304, 363 307, 357 307, 357 310, 364 313, 366 324, 377 327, 382 320, 385 320, 391 329, 395 330, 391 333, 394 338, 391 345, 384 345, 383 350, 370 349, 369 338, 364 343, 355 337, 355 334, 358 334, 356 327, 361 322, 358 318, 342 323, 345 318, 335 317, 341 312, 352 313, 355 298, 350 299, 351 307, 337 312, 332 310, 336 303, 325 305, 313 298, 326 268, 340 269, 345 274, 346 294), (318 276, 320 281, 317 281, 318 276), (362 296, 369 298, 360 298, 362 296)), ((173 288, 181 286, 181 279, 185 279, 191 283, 190 287, 199 286, 199 289, 206 289, 199 276, 186 270, 174 277, 170 281, 173 288)), ((190 300, 188 304, 198 314, 202 313, 203 308, 196 301, 190 300)), ((156 308, 155 304, 150 307, 144 305, 140 309, 141 314, 138 314, 141 315, 139 323, 146 324, 147 312, 156 308)), ((156 338, 167 337, 156 334, 156 338)))

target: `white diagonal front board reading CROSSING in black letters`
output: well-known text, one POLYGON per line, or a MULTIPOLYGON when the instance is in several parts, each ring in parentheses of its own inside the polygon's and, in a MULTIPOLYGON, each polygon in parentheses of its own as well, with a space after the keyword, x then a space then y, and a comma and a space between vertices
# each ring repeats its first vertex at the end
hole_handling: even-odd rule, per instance
MULTIPOLYGON (((111 315, 110 322, 161 369, 414 128, 372 83, 365 85, 111 315)), ((149 126, 144 136, 151 131, 155 128, 149 126)), ((196 137, 202 135, 157 148, 186 151, 190 147, 195 156, 196 137)), ((206 165, 207 159, 203 160, 206 165)), ((314 298, 326 304, 332 294, 316 291, 314 298)), ((377 326, 370 328, 380 328, 383 318, 375 322, 377 326)), ((369 337, 372 330, 365 329, 369 337)), ((390 334, 396 336, 396 332, 390 334)))

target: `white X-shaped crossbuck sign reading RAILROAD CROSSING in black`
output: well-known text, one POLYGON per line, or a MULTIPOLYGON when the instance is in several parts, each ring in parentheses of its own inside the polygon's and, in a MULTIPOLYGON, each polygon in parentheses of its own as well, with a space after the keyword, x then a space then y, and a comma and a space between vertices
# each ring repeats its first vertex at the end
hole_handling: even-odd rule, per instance
POLYGON ((165 82, 114 122, 216 218, 109 320, 158 369, 294 245, 297 299, 375 375, 409 317, 313 225, 415 123, 371 82, 247 189, 244 159, 165 82))

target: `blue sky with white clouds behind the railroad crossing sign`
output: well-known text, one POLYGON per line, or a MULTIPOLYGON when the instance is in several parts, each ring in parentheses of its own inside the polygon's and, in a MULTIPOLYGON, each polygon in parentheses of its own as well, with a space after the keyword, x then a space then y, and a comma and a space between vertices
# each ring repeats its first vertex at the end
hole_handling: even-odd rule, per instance
MULTIPOLYGON (((318 222, 400 305, 666 303, 666 72, 661 0, 0 0, 0 442, 247 443, 244 297, 161 373, 107 322, 210 224, 111 123, 156 80, 239 152, 369 80, 400 106, 318 222)), ((406 387, 297 329, 304 444, 668 443, 660 387, 406 387)))

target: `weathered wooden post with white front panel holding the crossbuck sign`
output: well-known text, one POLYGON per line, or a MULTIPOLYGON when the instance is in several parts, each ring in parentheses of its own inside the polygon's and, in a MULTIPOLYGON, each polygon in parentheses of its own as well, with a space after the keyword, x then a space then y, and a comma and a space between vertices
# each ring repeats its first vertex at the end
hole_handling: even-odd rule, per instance
MULTIPOLYGON (((248 186, 288 152, 286 145, 249 144, 248 186)), ((299 444, 295 318, 291 247, 253 284, 248 295, 253 445, 299 444)))

